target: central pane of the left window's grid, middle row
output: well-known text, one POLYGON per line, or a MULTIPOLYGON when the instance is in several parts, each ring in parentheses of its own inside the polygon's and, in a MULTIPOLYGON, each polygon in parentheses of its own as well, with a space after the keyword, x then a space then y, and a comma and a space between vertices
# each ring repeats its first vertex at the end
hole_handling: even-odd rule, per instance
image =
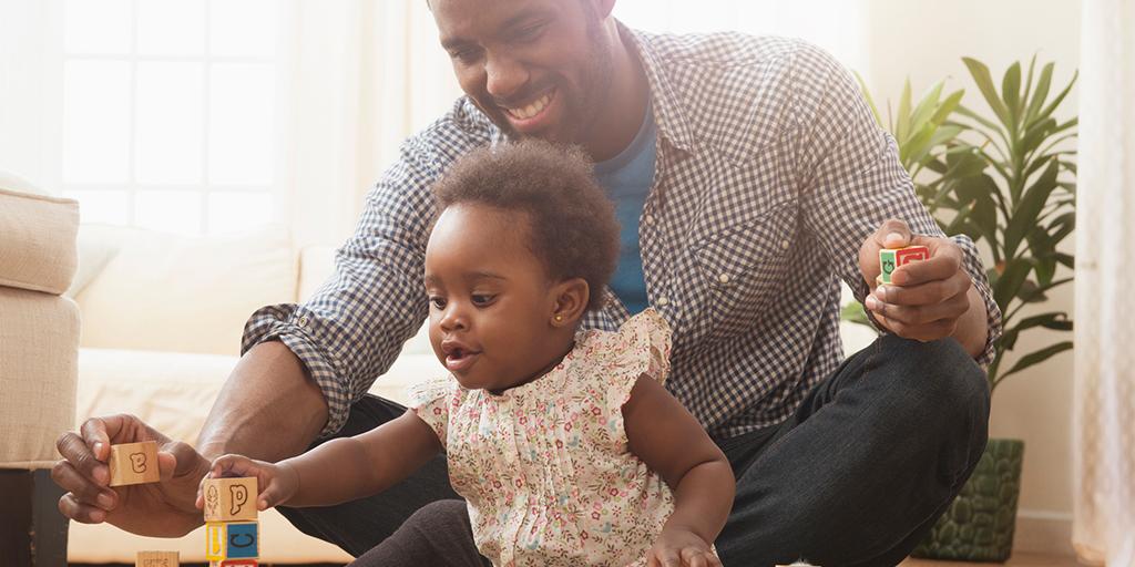
POLYGON ((203 69, 202 64, 138 64, 138 181, 201 181, 203 69))

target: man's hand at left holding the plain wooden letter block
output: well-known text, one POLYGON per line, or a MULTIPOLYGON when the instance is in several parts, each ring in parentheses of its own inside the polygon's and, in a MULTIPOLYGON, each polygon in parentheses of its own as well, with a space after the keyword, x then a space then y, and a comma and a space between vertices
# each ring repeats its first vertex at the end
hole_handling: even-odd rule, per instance
POLYGON ((64 433, 56 447, 64 459, 51 477, 68 492, 59 511, 76 522, 109 522, 127 532, 159 538, 185 535, 203 523, 194 507, 197 483, 209 462, 193 447, 153 430, 133 415, 92 417, 78 433, 64 433), (161 482, 110 488, 110 446, 158 442, 161 482))

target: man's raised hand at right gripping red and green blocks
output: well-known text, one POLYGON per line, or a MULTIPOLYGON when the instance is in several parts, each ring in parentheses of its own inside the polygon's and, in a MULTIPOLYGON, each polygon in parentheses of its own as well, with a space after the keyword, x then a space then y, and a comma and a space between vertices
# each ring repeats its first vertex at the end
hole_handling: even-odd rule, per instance
MULTIPOLYGON (((973 282, 962 268, 962 253, 953 240, 911 235, 900 220, 883 222, 859 248, 859 271, 871 295, 864 306, 894 335, 920 341, 951 337, 969 311, 973 282), (876 287, 881 273, 878 251, 922 245, 930 260, 913 262, 894 270, 890 285, 876 287)), ((984 338, 981 345, 984 345, 984 338)), ((968 348, 967 348, 968 349, 968 348)))

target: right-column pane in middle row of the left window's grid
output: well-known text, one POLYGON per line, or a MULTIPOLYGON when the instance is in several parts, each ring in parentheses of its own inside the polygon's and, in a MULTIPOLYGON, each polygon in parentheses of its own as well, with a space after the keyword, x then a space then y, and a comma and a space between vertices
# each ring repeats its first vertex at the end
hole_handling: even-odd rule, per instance
POLYGON ((209 83, 209 180, 270 185, 275 83, 270 65, 215 65, 209 83))

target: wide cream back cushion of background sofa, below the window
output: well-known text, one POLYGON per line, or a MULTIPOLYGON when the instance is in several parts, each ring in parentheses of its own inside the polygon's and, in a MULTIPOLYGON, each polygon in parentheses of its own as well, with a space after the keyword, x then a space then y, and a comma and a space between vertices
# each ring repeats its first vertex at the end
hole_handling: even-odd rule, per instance
POLYGON ((131 236, 76 296, 84 347, 236 355, 253 311, 295 301, 286 230, 131 236))

